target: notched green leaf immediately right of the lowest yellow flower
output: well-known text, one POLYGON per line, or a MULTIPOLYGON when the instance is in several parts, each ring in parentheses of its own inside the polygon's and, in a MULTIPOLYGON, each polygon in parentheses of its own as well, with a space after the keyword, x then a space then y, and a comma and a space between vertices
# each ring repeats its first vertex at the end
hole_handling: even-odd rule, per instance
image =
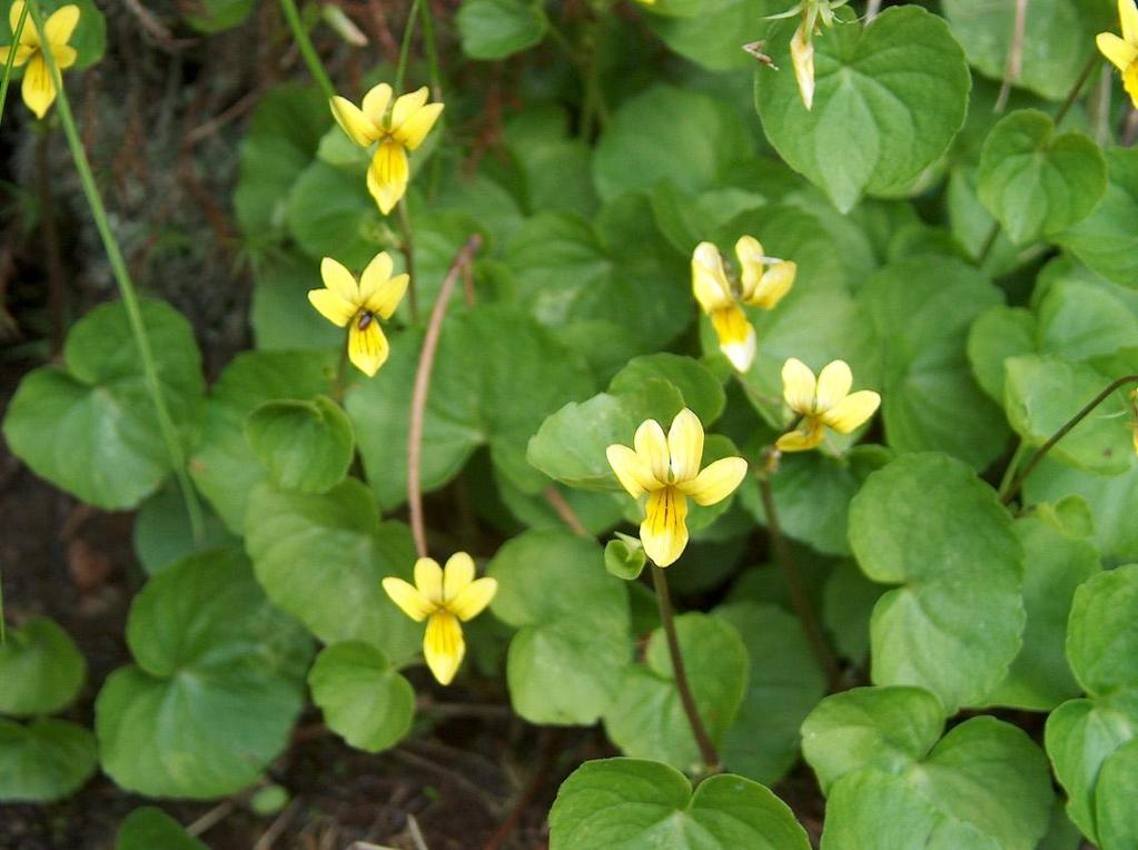
POLYGON ((632 651, 627 591, 605 571, 597 544, 526 531, 486 571, 498 581, 490 611, 518 629, 506 657, 514 711, 537 724, 596 723, 632 651))

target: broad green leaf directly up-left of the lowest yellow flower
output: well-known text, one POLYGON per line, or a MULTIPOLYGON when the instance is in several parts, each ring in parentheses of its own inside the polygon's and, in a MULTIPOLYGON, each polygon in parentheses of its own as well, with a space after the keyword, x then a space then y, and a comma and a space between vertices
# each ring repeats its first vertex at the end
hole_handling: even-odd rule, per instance
POLYGON ((363 641, 397 665, 419 651, 422 627, 380 589, 386 576, 411 577, 406 528, 380 525, 371 492, 354 478, 328 493, 254 490, 246 551, 274 604, 324 643, 363 641))

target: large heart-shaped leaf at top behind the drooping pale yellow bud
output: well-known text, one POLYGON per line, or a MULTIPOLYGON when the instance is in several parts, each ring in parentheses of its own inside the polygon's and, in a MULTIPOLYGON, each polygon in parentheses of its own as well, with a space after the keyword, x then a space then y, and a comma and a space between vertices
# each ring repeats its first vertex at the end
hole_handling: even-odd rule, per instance
MULTIPOLYGON (((791 68, 795 20, 767 36, 791 68)), ((783 159, 841 212, 863 195, 898 195, 937 162, 964 124, 968 68, 948 26, 917 6, 885 9, 867 26, 841 22, 814 39, 814 108, 793 74, 754 72, 754 102, 783 159)))

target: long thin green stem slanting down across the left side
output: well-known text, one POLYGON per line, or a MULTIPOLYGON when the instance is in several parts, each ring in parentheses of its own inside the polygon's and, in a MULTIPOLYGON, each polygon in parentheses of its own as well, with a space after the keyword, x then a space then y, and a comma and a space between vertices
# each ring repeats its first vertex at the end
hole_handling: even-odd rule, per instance
MULTIPOLYGON (((26 8, 32 16, 32 23, 40 34, 40 43, 47 43, 43 34, 43 17, 40 14, 39 0, 27 0, 26 8)), ((110 269, 115 274, 115 281, 118 283, 118 294, 126 310, 131 332, 139 348, 139 357, 142 360, 142 372, 146 378, 147 390, 150 395, 150 401, 154 403, 158 419, 158 430, 162 432, 163 443, 166 444, 166 453, 170 455, 174 477, 178 479, 182 498, 185 501, 185 511, 190 518, 193 539, 200 540, 204 536, 201 505, 198 503, 198 494, 193 489, 193 484, 190 481, 190 476, 185 469, 185 454, 178 438, 178 430, 174 428, 170 410, 166 407, 166 397, 158 380, 158 368, 155 364, 154 350, 150 347, 150 337, 147 333, 146 323, 142 321, 142 310, 139 305, 138 294, 134 291, 134 283, 131 281, 130 272, 126 270, 123 253, 115 240, 115 234, 110 230, 107 211, 102 205, 102 196, 99 195, 99 187, 96 184, 94 175, 91 173, 91 164, 86 159, 86 151, 83 149, 83 142, 79 137, 75 117, 72 115, 71 104, 67 100, 67 92, 64 89, 64 81, 59 73, 59 66, 56 64, 56 57, 50 50, 42 51, 42 56, 48 66, 48 73, 56 85, 59 119, 63 122, 64 133, 67 135, 67 145, 71 147, 72 159, 75 160, 75 171, 79 172, 80 182, 83 184, 83 193, 86 196, 91 217, 94 218, 94 225, 102 240, 102 247, 107 251, 107 258, 110 261, 110 269)))

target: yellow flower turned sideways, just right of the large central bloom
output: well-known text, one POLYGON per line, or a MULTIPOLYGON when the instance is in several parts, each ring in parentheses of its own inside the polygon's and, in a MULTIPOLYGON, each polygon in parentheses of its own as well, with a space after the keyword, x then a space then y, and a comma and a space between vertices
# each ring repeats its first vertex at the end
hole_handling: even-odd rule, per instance
POLYGON ((881 396, 871 389, 850 393, 853 373, 846 361, 835 360, 818 373, 791 357, 783 365, 783 397, 802 416, 799 427, 784 434, 775 444, 783 452, 805 452, 816 447, 825 429, 849 434, 877 410, 881 396))

